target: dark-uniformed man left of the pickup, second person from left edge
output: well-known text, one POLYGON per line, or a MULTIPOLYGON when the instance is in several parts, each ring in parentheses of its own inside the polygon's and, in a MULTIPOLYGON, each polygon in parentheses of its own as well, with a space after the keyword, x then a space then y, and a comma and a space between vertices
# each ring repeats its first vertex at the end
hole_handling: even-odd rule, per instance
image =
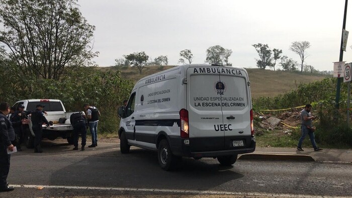
MULTIPOLYGON (((18 110, 13 113, 10 117, 10 121, 12 122, 12 126, 14 127, 15 134, 16 134, 16 140, 15 141, 15 146, 17 147, 17 151, 22 151, 21 149, 21 144, 24 142, 24 127, 25 125, 22 125, 22 123, 29 123, 27 112, 24 111, 25 106, 24 105, 19 105, 18 110)), ((28 126, 28 125, 27 125, 28 126)))

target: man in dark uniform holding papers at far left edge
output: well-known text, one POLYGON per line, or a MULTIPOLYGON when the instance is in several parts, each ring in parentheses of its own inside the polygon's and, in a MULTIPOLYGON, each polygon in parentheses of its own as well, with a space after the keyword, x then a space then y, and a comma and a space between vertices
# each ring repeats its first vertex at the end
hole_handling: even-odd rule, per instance
POLYGON ((7 182, 10 170, 10 151, 14 150, 11 140, 15 140, 14 128, 7 115, 10 113, 10 105, 8 103, 0 104, 0 191, 11 191, 14 187, 9 186, 7 182))

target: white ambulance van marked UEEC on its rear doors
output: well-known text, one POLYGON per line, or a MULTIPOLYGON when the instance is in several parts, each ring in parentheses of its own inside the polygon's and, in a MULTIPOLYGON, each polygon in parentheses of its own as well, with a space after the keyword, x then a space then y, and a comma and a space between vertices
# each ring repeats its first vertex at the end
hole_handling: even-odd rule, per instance
POLYGON ((162 169, 181 157, 231 165, 255 150, 248 73, 243 68, 191 64, 146 76, 133 87, 121 117, 121 153, 157 150, 162 169))

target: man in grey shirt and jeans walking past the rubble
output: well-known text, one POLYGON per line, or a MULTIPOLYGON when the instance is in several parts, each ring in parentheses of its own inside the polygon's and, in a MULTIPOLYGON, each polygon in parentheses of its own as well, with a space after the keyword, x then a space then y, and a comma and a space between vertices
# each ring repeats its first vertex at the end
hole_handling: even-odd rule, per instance
POLYGON ((323 149, 319 148, 314 140, 314 131, 315 127, 313 127, 313 120, 315 119, 314 116, 310 113, 312 110, 312 106, 310 104, 307 104, 304 110, 301 111, 301 138, 298 141, 298 146, 297 150, 299 151, 304 151, 302 149, 302 143, 304 138, 309 135, 310 142, 312 143, 312 146, 314 148, 314 151, 321 151, 323 149))

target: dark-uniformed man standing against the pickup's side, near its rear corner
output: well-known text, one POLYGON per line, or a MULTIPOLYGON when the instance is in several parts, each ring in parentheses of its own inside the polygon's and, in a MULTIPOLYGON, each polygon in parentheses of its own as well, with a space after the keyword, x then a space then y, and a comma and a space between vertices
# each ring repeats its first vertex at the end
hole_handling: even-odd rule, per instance
POLYGON ((36 106, 36 110, 33 111, 31 120, 32 120, 32 129, 35 135, 34 138, 34 152, 35 153, 42 153, 43 150, 40 146, 40 141, 42 140, 42 135, 43 135, 43 123, 49 125, 48 120, 46 120, 46 118, 44 117, 44 113, 43 113, 43 108, 44 106, 42 106, 41 104, 36 106))

